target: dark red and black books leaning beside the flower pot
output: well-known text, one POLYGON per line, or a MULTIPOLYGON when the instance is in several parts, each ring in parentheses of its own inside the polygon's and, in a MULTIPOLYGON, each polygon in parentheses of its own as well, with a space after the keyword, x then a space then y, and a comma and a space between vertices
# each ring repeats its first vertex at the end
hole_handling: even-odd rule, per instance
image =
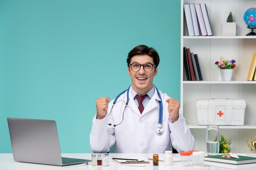
POLYGON ((183 47, 184 68, 189 81, 200 81, 202 79, 198 54, 194 54, 189 48, 183 47))

